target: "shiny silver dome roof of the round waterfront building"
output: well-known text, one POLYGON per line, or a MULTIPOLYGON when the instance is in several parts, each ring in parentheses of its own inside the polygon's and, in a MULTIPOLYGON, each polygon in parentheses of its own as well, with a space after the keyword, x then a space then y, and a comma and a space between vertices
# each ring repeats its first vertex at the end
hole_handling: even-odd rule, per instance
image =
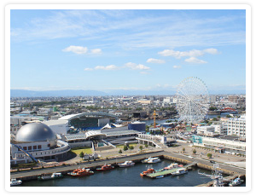
POLYGON ((25 124, 18 130, 16 141, 53 141, 56 139, 54 132, 46 124, 25 124))

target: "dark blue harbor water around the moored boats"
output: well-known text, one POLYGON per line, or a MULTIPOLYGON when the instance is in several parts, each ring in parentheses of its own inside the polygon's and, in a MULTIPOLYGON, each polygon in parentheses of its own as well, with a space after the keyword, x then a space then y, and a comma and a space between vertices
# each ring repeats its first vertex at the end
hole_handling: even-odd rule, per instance
MULTIPOLYGON (((209 177, 199 175, 198 168, 189 170, 182 176, 165 176, 159 179, 140 176, 144 170, 158 170, 172 163, 172 160, 164 159, 156 164, 139 163, 128 168, 95 171, 92 176, 64 176, 56 180, 23 182, 19 187, 195 187, 212 181, 209 177)), ((200 172, 212 173, 211 170, 203 169, 200 172)))

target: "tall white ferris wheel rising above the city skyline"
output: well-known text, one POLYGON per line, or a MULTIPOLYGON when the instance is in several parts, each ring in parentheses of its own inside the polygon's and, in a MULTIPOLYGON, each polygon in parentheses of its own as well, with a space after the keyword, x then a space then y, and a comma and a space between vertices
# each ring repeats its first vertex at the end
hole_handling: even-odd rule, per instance
POLYGON ((199 123, 207 115, 209 108, 209 95, 207 85, 200 79, 189 77, 177 86, 177 112, 178 121, 186 123, 199 123))

